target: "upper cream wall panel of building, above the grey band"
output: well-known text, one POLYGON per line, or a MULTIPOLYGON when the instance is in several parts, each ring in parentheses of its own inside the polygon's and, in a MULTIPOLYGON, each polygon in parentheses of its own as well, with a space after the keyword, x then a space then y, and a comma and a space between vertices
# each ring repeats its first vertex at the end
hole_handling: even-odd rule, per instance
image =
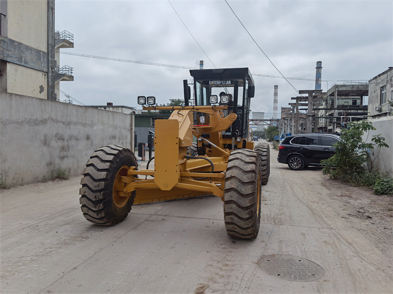
POLYGON ((8 38, 48 51, 47 0, 8 0, 8 38))

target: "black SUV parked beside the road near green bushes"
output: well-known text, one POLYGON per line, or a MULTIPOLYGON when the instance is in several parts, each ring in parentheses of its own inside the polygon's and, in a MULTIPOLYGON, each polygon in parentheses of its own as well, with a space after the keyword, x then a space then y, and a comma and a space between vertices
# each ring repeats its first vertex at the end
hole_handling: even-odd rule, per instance
POLYGON ((331 157, 332 147, 340 137, 328 133, 298 134, 286 137, 279 146, 277 161, 299 171, 305 166, 321 166, 321 160, 331 157))

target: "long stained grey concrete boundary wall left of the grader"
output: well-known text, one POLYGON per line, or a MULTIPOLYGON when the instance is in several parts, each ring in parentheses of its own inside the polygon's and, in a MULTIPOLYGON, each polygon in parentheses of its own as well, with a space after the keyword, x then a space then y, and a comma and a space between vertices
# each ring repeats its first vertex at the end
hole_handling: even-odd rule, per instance
POLYGON ((98 147, 134 146, 134 116, 0 92, 0 171, 7 184, 61 169, 81 174, 98 147))

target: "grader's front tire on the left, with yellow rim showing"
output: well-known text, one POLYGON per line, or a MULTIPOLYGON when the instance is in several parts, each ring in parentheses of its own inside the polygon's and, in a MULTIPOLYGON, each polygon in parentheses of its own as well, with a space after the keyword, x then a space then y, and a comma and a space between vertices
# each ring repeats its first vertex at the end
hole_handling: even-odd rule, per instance
POLYGON ((136 192, 123 197, 117 193, 121 176, 130 167, 138 167, 130 149, 119 145, 100 147, 90 156, 81 180, 79 202, 87 221, 98 225, 115 225, 123 221, 134 204, 136 192))

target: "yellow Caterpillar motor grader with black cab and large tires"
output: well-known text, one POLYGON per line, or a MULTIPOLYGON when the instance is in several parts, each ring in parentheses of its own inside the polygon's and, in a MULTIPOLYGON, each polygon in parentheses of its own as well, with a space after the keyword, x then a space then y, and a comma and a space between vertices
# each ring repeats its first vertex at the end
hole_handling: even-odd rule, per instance
POLYGON ((153 158, 139 170, 134 153, 118 145, 90 156, 80 189, 88 221, 114 225, 134 204, 214 195, 224 202, 229 236, 257 237, 270 164, 269 145, 254 147, 249 132, 253 77, 248 68, 190 73, 194 99, 184 80, 184 106, 155 106, 154 97, 138 97, 144 110, 172 110, 168 120, 155 121, 151 169, 153 158))

